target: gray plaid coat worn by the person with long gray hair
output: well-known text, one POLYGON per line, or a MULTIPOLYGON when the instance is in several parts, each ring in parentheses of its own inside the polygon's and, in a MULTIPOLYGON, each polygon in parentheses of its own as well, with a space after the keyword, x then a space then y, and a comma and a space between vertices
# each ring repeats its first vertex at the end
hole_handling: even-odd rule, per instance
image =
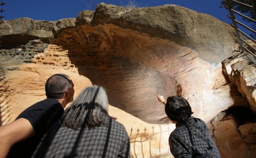
POLYGON ((108 118, 108 126, 52 129, 34 158, 130 158, 130 142, 122 124, 108 118))

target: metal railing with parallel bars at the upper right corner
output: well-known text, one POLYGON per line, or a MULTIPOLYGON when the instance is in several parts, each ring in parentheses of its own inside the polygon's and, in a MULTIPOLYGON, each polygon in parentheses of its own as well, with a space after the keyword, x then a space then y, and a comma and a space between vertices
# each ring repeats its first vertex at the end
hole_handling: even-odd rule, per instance
POLYGON ((237 1, 237 0, 226 0, 226 6, 225 8, 229 9, 229 18, 232 20, 232 26, 234 27, 235 29, 235 33, 237 35, 237 38, 238 38, 238 42, 239 42, 239 45, 240 45, 240 48, 241 48, 241 51, 249 58, 251 59, 255 64, 256 64, 256 48, 254 48, 251 44, 249 44, 247 42, 248 39, 250 39, 252 42, 254 42, 256 44, 256 41, 251 37, 249 36, 247 33, 243 32, 240 28, 238 28, 238 25, 242 26, 243 28, 246 28, 247 30, 249 30, 249 32, 252 32, 254 34, 256 34, 256 31, 253 30, 252 28, 250 28, 249 26, 243 24, 242 22, 238 21, 236 18, 235 18, 235 15, 238 15, 242 18, 245 18, 247 19, 247 21, 249 22, 252 22, 252 23, 256 23, 256 6, 255 6, 255 2, 253 0, 253 6, 250 6, 248 4, 245 4, 245 3, 242 3, 240 1, 237 1), (252 9, 253 12, 254 12, 254 18, 255 19, 252 19, 250 17, 247 17, 246 15, 238 12, 237 10, 234 10, 232 8, 232 4, 236 4, 236 5, 239 5, 239 6, 242 6, 242 7, 246 7, 246 8, 249 8, 249 9, 252 9), (238 25, 237 25, 238 24, 238 25), (242 34, 242 35, 241 35, 242 34), (250 50, 248 48, 251 48, 250 50))

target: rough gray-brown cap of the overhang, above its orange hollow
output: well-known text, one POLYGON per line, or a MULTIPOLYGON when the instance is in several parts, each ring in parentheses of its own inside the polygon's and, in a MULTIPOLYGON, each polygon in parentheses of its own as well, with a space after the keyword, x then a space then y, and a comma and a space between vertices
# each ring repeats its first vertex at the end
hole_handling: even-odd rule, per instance
POLYGON ((151 8, 116 7, 101 3, 91 25, 113 24, 147 33, 196 50, 208 62, 221 62, 233 50, 233 28, 215 17, 176 5, 151 8))

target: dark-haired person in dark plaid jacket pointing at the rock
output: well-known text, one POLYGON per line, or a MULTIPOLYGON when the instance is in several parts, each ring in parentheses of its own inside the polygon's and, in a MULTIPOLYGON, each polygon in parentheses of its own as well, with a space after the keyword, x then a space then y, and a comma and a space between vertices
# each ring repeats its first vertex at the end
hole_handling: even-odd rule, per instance
POLYGON ((163 96, 155 95, 164 103, 166 115, 176 124, 169 137, 170 150, 175 158, 220 158, 208 127, 201 119, 191 116, 193 112, 187 100, 176 95, 165 101, 163 96))

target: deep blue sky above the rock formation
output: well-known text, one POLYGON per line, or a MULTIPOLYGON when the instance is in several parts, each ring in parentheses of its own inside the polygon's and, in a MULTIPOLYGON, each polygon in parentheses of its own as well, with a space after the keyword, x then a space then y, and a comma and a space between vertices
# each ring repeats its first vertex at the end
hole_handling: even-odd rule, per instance
MULTIPOLYGON (((67 17, 76 17, 86 9, 94 7, 94 0, 2 0, 5 4, 0 9, 5 11, 0 15, 3 20, 11 20, 18 17, 30 17, 34 20, 56 21, 67 17)), ((227 17, 228 11, 219 8, 221 0, 135 0, 139 7, 152 7, 165 4, 176 4, 192 10, 210 14, 221 21, 230 23, 227 17)), ((98 3, 125 6, 129 0, 96 0, 98 3)))

